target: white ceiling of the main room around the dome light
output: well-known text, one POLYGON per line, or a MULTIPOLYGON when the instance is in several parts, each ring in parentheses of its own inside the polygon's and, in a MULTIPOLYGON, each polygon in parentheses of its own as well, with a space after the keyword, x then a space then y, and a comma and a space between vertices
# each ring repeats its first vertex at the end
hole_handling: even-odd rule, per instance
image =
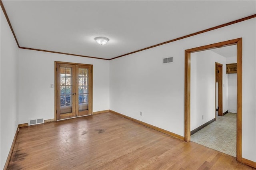
POLYGON ((254 0, 2 2, 21 47, 106 59, 256 13, 254 0))

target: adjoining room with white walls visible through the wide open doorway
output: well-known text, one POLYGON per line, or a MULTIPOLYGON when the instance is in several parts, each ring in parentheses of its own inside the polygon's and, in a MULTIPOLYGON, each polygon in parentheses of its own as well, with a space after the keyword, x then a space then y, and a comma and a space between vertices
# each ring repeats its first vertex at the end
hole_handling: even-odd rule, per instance
POLYGON ((191 141, 234 157, 236 53, 230 45, 191 55, 191 141))

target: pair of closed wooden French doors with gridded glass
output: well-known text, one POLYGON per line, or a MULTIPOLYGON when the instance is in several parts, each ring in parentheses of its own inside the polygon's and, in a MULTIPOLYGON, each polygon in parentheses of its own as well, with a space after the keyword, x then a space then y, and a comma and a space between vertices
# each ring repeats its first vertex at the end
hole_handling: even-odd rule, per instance
POLYGON ((92 114, 92 65, 56 62, 56 120, 92 114))

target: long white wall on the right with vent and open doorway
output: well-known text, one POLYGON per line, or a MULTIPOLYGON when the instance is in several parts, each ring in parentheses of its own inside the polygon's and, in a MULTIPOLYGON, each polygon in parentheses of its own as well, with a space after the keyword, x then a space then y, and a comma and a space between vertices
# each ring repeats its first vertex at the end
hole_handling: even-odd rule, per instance
POLYGON ((111 60, 110 109, 184 136, 184 50, 242 37, 242 157, 255 162, 255 22, 253 18, 111 60), (163 65, 162 58, 170 56, 174 63, 163 65))

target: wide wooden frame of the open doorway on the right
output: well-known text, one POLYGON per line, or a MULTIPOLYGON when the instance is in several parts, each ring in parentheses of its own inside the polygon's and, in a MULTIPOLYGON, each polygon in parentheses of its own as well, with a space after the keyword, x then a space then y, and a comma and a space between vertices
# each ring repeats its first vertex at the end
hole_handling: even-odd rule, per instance
POLYGON ((190 54, 219 47, 236 45, 237 51, 237 126, 236 126, 236 160, 242 162, 242 38, 204 45, 185 50, 185 108, 184 140, 190 141, 190 54))

